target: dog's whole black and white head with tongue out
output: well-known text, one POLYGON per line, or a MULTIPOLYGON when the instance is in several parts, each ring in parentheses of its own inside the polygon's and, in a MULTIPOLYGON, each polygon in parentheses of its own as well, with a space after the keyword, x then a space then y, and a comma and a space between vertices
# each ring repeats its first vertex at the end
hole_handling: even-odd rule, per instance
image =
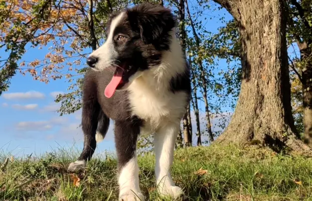
POLYGON ((162 53, 170 49, 176 21, 169 9, 144 3, 112 14, 107 23, 106 41, 88 58, 94 70, 113 70, 105 89, 110 97, 126 88, 144 70, 157 66, 162 53))

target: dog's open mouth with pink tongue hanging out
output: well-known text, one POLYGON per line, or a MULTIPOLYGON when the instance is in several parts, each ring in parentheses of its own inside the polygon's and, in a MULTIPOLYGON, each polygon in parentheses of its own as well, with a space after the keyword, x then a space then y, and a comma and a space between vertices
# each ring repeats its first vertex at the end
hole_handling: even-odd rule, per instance
POLYGON ((116 90, 129 82, 129 77, 135 73, 135 69, 128 62, 122 62, 116 67, 112 79, 107 84, 104 94, 110 98, 116 90))

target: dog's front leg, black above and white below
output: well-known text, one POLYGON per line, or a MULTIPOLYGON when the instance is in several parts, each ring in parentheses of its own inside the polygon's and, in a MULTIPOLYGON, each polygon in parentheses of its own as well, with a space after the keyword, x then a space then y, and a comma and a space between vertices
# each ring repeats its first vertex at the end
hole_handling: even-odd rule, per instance
POLYGON ((136 140, 140 132, 140 121, 115 122, 115 144, 119 169, 119 200, 144 200, 139 188, 136 140))

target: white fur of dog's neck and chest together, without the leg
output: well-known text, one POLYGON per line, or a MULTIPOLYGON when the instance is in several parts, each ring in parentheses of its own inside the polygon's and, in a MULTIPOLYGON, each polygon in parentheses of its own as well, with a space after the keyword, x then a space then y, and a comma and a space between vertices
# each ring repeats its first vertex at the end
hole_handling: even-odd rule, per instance
POLYGON ((185 112, 187 94, 183 91, 172 93, 170 80, 185 71, 185 59, 175 32, 170 50, 164 53, 159 66, 143 71, 128 86, 133 115, 145 120, 142 134, 153 133, 170 122, 180 122, 185 112))

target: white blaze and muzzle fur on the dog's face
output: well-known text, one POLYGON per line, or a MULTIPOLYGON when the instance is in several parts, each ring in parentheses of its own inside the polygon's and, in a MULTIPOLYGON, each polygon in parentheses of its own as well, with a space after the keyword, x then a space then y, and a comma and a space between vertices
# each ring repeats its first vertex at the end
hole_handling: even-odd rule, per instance
POLYGON ((114 34, 115 28, 120 24, 123 15, 124 15, 124 12, 120 13, 118 16, 116 16, 112 20, 110 24, 110 28, 109 28, 109 34, 107 36, 105 43, 90 54, 90 56, 94 56, 98 58, 98 62, 95 64, 95 68, 92 68, 92 69, 94 70, 104 69, 108 67, 109 65, 111 65, 112 62, 118 56, 113 45, 113 34, 114 34))

